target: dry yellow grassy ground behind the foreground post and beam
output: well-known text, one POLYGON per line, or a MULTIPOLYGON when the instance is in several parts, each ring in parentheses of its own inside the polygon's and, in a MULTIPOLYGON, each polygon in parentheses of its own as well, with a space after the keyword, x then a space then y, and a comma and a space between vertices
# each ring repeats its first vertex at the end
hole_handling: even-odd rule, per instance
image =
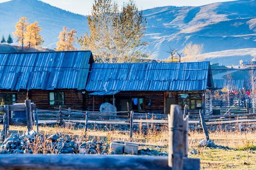
MULTIPOLYGON (((34 127, 36 129, 36 127, 34 127)), ((167 127, 162 127, 160 131, 149 129, 146 133, 142 131, 134 132, 134 141, 141 144, 141 148, 156 149, 158 152, 168 150, 167 127), (158 147, 157 147, 158 146, 158 147)), ((2 125, 0 125, 2 130, 2 125)), ((10 133, 24 133, 26 127, 10 126, 10 133)), ((83 136, 83 129, 73 127, 39 127, 42 134, 64 133, 70 136, 83 136)), ((117 131, 105 129, 105 131, 89 129, 87 135, 89 139, 97 138, 105 143, 111 140, 129 141, 127 131, 117 131)), ((217 145, 228 146, 229 149, 215 149, 208 147, 198 147, 197 144, 204 138, 201 131, 189 132, 189 157, 201 159, 201 169, 206 170, 256 170, 256 132, 228 131, 220 130, 209 132, 210 139, 217 145)))

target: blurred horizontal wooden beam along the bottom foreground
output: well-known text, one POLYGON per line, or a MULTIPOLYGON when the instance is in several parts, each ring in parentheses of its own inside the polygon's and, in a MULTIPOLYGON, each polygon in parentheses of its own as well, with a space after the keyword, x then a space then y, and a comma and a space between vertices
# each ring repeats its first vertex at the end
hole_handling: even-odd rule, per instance
MULTIPOLYGON (((183 170, 200 170, 200 160, 183 158, 183 170)), ((166 156, 0 154, 0 170, 168 170, 166 156)))

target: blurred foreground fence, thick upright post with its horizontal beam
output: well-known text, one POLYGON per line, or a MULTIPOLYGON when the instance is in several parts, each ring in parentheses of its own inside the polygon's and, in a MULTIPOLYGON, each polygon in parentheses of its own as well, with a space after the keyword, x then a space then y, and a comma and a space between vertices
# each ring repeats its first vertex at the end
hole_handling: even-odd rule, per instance
POLYGON ((172 105, 169 156, 120 155, 0 155, 0 170, 200 170, 200 159, 187 158, 188 118, 172 105))

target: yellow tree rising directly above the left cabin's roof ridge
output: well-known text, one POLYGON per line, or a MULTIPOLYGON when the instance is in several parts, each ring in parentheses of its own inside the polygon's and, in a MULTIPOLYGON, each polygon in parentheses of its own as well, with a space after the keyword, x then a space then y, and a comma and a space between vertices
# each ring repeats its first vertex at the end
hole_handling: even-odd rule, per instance
POLYGON ((57 49, 56 51, 73 51, 77 50, 73 45, 75 44, 75 34, 77 32, 72 29, 68 32, 68 28, 66 26, 63 27, 63 31, 60 32, 58 39, 59 42, 56 43, 57 49))

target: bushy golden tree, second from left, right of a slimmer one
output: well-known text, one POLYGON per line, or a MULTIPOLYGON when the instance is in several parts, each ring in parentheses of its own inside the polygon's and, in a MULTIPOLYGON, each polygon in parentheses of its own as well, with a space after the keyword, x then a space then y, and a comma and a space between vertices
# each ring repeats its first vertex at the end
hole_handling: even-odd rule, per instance
POLYGON ((42 36, 40 35, 40 31, 42 31, 42 28, 40 28, 40 26, 38 26, 37 24, 38 22, 36 21, 35 23, 27 26, 24 44, 28 48, 30 48, 31 46, 41 45, 44 42, 42 36))

